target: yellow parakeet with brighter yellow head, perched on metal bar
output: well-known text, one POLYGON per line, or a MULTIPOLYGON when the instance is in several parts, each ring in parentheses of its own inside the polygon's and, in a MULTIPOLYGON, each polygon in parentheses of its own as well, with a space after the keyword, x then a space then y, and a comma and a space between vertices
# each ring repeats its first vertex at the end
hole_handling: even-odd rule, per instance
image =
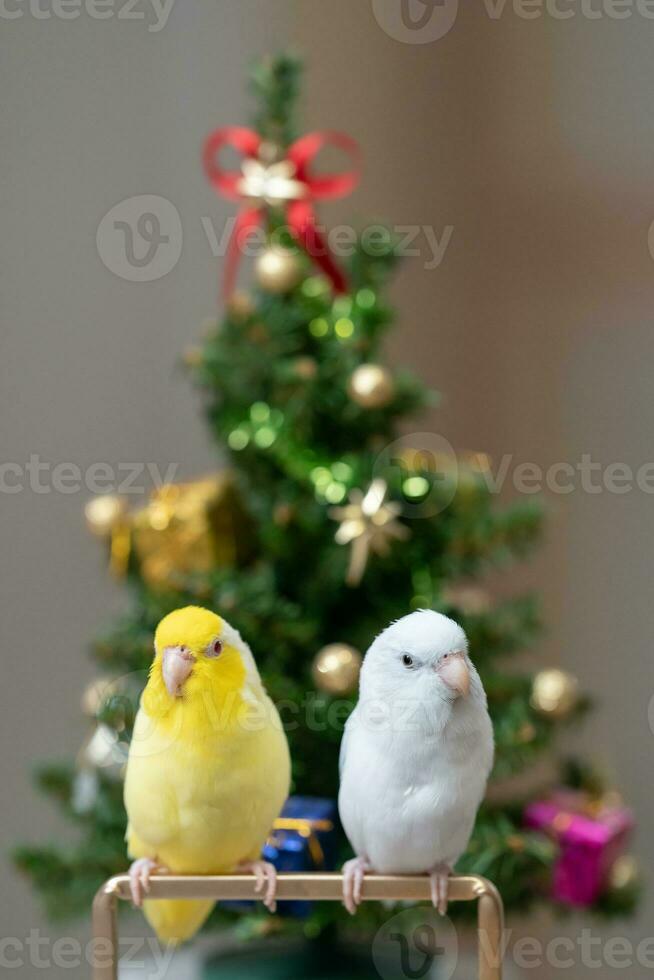
POLYGON ((164 942, 190 938, 211 901, 143 901, 149 876, 256 875, 275 907, 275 869, 260 860, 288 795, 279 715, 249 647, 207 609, 161 620, 125 777, 132 898, 164 942))

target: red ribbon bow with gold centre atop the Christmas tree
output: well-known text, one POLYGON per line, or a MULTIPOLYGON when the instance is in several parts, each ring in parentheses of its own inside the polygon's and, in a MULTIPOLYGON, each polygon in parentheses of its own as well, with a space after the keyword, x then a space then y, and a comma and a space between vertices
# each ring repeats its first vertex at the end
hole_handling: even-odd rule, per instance
POLYGON ((263 222, 266 204, 286 208, 288 227, 307 255, 329 278, 334 292, 343 293, 347 283, 326 242, 316 228, 314 201, 343 197, 359 179, 359 150, 344 133, 324 131, 301 136, 286 151, 283 160, 267 163, 265 141, 251 129, 228 126, 217 129, 204 144, 204 169, 211 186, 230 200, 245 201, 238 214, 227 247, 223 294, 228 298, 234 288, 241 255, 241 235, 263 222), (313 176, 310 165, 324 146, 344 150, 353 161, 351 170, 341 174, 313 176), (243 154, 242 170, 223 170, 219 156, 230 146, 243 154), (256 201, 257 203, 249 203, 256 201))

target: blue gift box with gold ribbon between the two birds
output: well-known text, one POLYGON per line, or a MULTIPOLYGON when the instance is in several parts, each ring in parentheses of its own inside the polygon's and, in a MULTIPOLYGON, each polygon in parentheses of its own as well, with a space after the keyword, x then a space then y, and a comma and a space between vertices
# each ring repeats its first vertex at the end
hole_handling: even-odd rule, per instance
MULTIPOLYGON (((334 800, 316 796, 290 796, 263 848, 262 857, 280 874, 293 871, 333 871, 337 850, 337 810, 334 800)), ((252 902, 225 902, 246 909, 252 902)), ((278 902, 279 915, 304 918, 311 902, 278 902)))

